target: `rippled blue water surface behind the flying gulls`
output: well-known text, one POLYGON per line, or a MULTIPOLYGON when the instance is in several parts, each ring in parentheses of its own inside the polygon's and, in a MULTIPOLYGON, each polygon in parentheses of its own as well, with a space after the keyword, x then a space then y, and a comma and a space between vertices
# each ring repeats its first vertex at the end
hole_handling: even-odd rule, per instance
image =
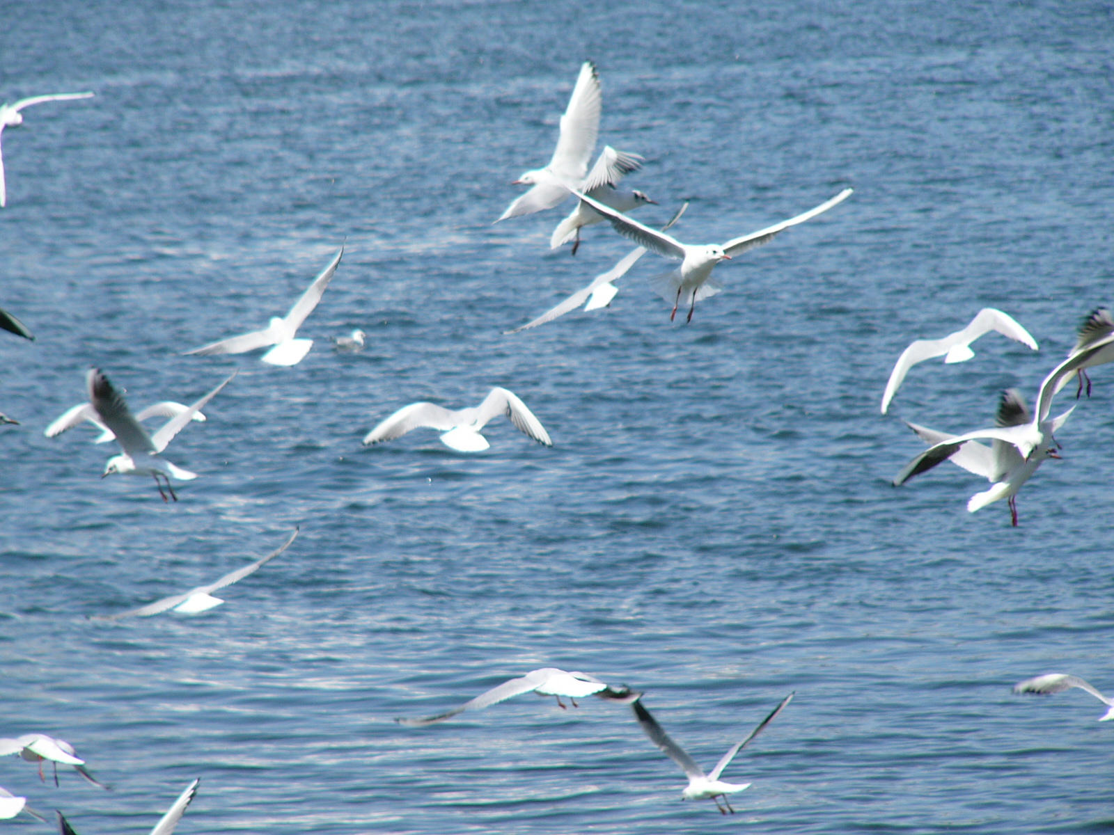
MULTIPOLYGON (((1114 376, 1064 461, 976 513, 946 465, 889 480, 912 420, 961 431, 1035 391, 1111 297, 1114 12, 1103 2, 14 3, 0 96, 89 89, 3 134, 0 736, 71 741, 115 790, 0 762, 0 785, 81 835, 1095 833, 1114 831, 1114 376), (676 228, 724 240, 853 186, 717 269, 691 325, 646 286, 537 331, 629 249, 604 226, 549 252, 560 212, 491 225, 551 153, 580 61, 602 140, 676 228), (281 315, 346 240, 293 369, 180 351, 281 315), (964 365, 895 358, 981 306, 964 365), (362 327, 369 347, 335 354, 362 327), (168 456, 165 505, 98 477, 110 446, 41 430, 106 370, 136 405, 235 381, 168 456), (516 391, 461 455, 430 432, 364 449, 422 399, 516 391), (86 620, 291 549, 183 618, 86 620), (543 666, 647 691, 735 816, 684 803, 627 708, 532 696, 429 728, 543 666)), ((567 207, 565 207, 567 210, 567 207)), ((1069 395, 1065 395, 1065 402, 1069 395)), ((21 817, 11 832, 42 832, 21 817)))

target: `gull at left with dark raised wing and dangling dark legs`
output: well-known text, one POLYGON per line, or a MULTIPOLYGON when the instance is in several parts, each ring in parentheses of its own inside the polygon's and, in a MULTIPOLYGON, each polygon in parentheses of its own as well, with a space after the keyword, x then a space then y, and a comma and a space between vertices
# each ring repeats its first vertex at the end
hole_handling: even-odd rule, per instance
POLYGON ((116 441, 120 444, 120 449, 124 450, 123 454, 108 459, 105 464, 105 472, 100 478, 113 475, 114 473, 150 475, 155 479, 155 484, 158 485, 158 494, 163 497, 163 501, 165 502, 167 501, 166 493, 163 492, 163 485, 158 480, 158 477, 162 475, 166 481, 167 490, 170 491, 170 497, 174 501, 177 501, 178 497, 175 494, 174 488, 170 487, 170 477, 179 481, 189 481, 196 479, 197 473, 172 464, 166 459, 160 458, 159 453, 193 420, 194 414, 213 400, 217 392, 224 389, 234 376, 236 376, 236 372, 232 372, 223 383, 186 409, 186 411, 168 420, 154 435, 148 435, 147 430, 143 428, 128 409, 127 401, 124 400, 124 394, 113 386, 108 377, 100 372, 100 369, 90 369, 86 379, 89 386, 89 402, 92 404, 101 422, 116 434, 116 441))

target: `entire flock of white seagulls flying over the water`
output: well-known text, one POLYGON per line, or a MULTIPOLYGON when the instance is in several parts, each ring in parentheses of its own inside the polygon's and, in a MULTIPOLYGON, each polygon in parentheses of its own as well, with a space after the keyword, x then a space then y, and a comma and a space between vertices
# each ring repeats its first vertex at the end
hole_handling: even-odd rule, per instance
MULTIPOLYGON (((0 107, 0 132, 4 127, 21 125, 23 121, 21 110, 27 107, 47 101, 84 99, 92 95, 92 92, 78 92, 35 96, 3 105, 0 107)), ((732 238, 723 244, 682 243, 670 235, 668 230, 684 215, 688 207, 687 203, 682 205, 672 219, 659 229, 652 228, 628 216, 628 213, 642 206, 656 203, 643 191, 626 189, 622 185, 622 180, 627 175, 639 170, 643 157, 629 151, 616 150, 607 145, 592 168, 588 168, 598 140, 602 107, 603 97, 598 73, 596 68, 586 61, 580 67, 568 107, 561 116, 557 147, 551 159, 545 167, 528 170, 515 180, 516 185, 529 186, 529 189, 516 198, 497 222, 551 209, 568 197, 574 197, 576 207, 554 229, 550 237, 551 248, 571 244, 571 253, 575 255, 582 245, 582 230, 585 227, 604 223, 609 224, 616 233, 633 240, 637 246, 614 267, 597 275, 587 286, 573 293, 564 302, 537 318, 507 331, 508 334, 553 322, 582 304, 588 311, 609 305, 618 293, 615 282, 623 278, 647 252, 680 262, 678 266, 656 275, 649 279, 649 283, 667 303, 672 304, 671 321, 676 316, 677 311, 684 307, 687 307, 685 318, 691 321, 697 302, 723 289, 723 285, 713 277, 713 271, 717 264, 771 242, 785 229, 832 209, 852 194, 852 189, 846 188, 808 212, 758 232, 732 238)), ((0 207, 6 206, 6 204, 7 194, 2 157, 0 157, 0 207)), ((313 279, 285 316, 271 318, 265 328, 223 338, 186 353, 211 356, 267 348, 260 357, 263 363, 277 366, 296 365, 306 356, 313 345, 313 340, 297 337, 297 331, 321 302, 340 266, 343 254, 344 247, 341 246, 329 265, 313 279)), ((2 310, 0 310, 0 328, 27 340, 33 338, 16 316, 2 310)), ((991 331, 1027 345, 1034 351, 1037 350, 1036 341, 1014 318, 1001 311, 985 308, 964 330, 940 340, 918 340, 901 353, 886 385, 881 413, 888 412, 901 383, 913 365, 938 356, 944 356, 945 363, 970 360, 974 356, 970 344, 991 331)), ((365 341, 367 334, 361 330, 355 330, 348 336, 333 338, 335 348, 339 351, 359 351, 364 346, 365 341)), ((991 483, 989 490, 971 497, 967 505, 968 510, 975 511, 991 502, 1008 499, 1012 520, 1016 525, 1015 499, 1017 491, 1032 478, 1045 459, 1058 458, 1058 444, 1055 435, 1064 426, 1075 407, 1073 405, 1066 412, 1051 416, 1053 397, 1072 376, 1078 379, 1076 399, 1082 395, 1084 387, 1089 396, 1091 380, 1086 370, 1111 361, 1114 361, 1114 318, 1105 308, 1098 308, 1087 317, 1079 330, 1076 345, 1068 357, 1057 364, 1043 380, 1032 409, 1026 404, 1020 393, 1009 390, 1001 396, 997 411, 997 425, 994 428, 949 434, 909 423, 910 429, 928 444, 928 449, 915 456, 901 470, 893 480, 895 485, 902 484, 909 479, 927 472, 945 460, 950 460, 960 468, 986 478, 991 483), (989 442, 989 445, 984 442, 989 442)), ((188 406, 174 401, 162 401, 133 414, 123 391, 117 389, 102 371, 92 369, 86 377, 88 402, 67 410, 47 426, 45 434, 55 438, 85 422, 91 423, 100 432, 96 443, 107 443, 115 440, 120 448, 120 453, 106 462, 101 478, 111 474, 149 477, 154 479, 164 502, 177 501, 178 497, 172 481, 189 481, 197 478, 197 474, 177 466, 164 458, 163 453, 185 426, 192 422, 205 422, 206 418, 201 410, 234 377, 235 372, 188 406), (144 426, 144 421, 153 419, 165 419, 165 423, 154 432, 148 432, 144 426)), ((439 432, 440 441, 452 450, 467 453, 480 452, 489 448, 481 430, 490 421, 501 415, 506 415, 519 431, 531 440, 545 446, 553 445, 553 440, 541 422, 521 399, 504 387, 492 389, 478 406, 456 411, 436 403, 411 403, 378 423, 364 436, 363 443, 377 444, 401 438, 412 430, 426 428, 439 432)), ((0 414, 0 424, 2 423, 17 424, 18 422, 0 414)), ((213 583, 172 595, 127 611, 92 617, 99 620, 119 620, 129 617, 150 617, 172 610, 179 615, 197 615, 208 611, 224 602, 214 596, 215 591, 260 570, 290 548, 299 530, 295 529, 276 550, 224 574, 213 583)), ((1049 695, 1071 688, 1082 688, 1108 707, 1100 720, 1114 719, 1114 699, 1106 698, 1097 689, 1075 676, 1046 674, 1022 681, 1014 689, 1018 694, 1049 695)), ((643 703, 645 695, 643 691, 632 690, 625 685, 612 686, 595 676, 579 671, 568 672, 556 668, 531 670, 443 713, 423 718, 399 718, 397 721, 410 727, 436 725, 466 710, 487 708, 527 692, 554 697, 557 706, 561 709, 568 707, 563 699, 568 699, 573 707, 577 707, 577 699, 585 699, 589 696, 629 705, 635 719, 648 739, 668 758, 673 759, 688 779, 682 794, 683 798, 691 800, 712 799, 722 814, 734 813, 729 795, 741 792, 751 785, 723 780, 722 776, 725 769, 740 750, 755 739, 788 707, 794 696, 794 694, 786 696, 747 736, 733 745, 721 757, 715 767, 707 773, 665 733, 643 703)), ((0 739, 0 755, 18 755, 25 760, 37 763, 41 779, 45 779, 42 764, 50 763, 55 768, 53 778, 57 784, 57 767, 61 764, 75 768, 89 783, 100 788, 108 788, 86 769, 86 762, 77 756, 74 746, 45 734, 27 734, 13 739, 0 739)), ((198 780, 192 782, 186 787, 166 815, 152 829, 150 835, 170 835, 194 798, 197 787, 198 780)), ((45 819, 27 806, 26 797, 13 795, 7 789, 0 788, 0 818, 10 818, 20 812, 45 819)), ((61 835, 74 835, 72 828, 60 812, 58 813, 58 827, 61 835)))

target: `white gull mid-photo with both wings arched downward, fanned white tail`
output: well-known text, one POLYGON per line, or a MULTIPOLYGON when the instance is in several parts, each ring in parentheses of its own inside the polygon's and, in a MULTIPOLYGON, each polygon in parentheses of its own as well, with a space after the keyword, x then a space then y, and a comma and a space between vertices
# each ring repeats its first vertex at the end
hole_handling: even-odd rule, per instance
POLYGON ((412 429, 428 428, 443 432, 441 443, 458 452, 481 452, 490 444, 480 434, 489 421, 505 414, 518 430, 545 446, 553 446, 549 434, 534 412, 518 396, 507 390, 496 386, 483 399, 483 402, 472 409, 460 409, 456 412, 436 403, 411 403, 403 406, 387 420, 381 421, 363 438, 364 444, 393 441, 412 429))

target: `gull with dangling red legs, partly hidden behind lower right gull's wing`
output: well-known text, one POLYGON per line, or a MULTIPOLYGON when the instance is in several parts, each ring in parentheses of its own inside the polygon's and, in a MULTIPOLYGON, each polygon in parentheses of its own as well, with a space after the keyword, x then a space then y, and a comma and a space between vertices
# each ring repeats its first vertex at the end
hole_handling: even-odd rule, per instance
MULTIPOLYGON (((1061 426, 1067 421, 1067 416, 1072 413, 1075 406, 1067 410, 1059 418, 1056 418, 1052 423, 1052 432, 1047 433, 1046 441, 1037 448, 1036 452, 1028 459, 1022 458, 1022 453, 1017 451, 1017 448, 1012 443, 1001 441, 999 439, 994 439, 990 442, 990 446, 980 444, 978 441, 966 441, 955 448, 955 451, 949 456, 949 460, 964 468, 968 472, 973 472, 976 475, 981 475, 984 479, 989 481, 993 487, 981 493, 976 493, 967 502, 967 511, 974 513, 976 510, 985 508, 991 502, 999 501, 1001 499, 1009 499, 1009 518, 1013 525, 1017 527, 1017 491, 1022 489, 1022 485, 1028 481, 1033 473, 1037 471, 1037 468, 1045 462, 1045 459, 1059 458, 1056 450, 1052 449, 1054 443, 1053 436, 1061 426)), ((1023 426, 1027 425, 1032 421, 1029 415, 1029 410, 1025 405, 1025 399, 1022 396, 1020 392, 1016 389, 1007 389, 1001 393, 1001 401, 998 404, 998 425, 999 426, 1023 426)), ((937 432, 936 430, 928 429, 927 426, 918 426, 916 423, 906 423, 909 429, 916 432, 920 440, 928 443, 932 449, 937 449, 939 445, 946 445, 956 439, 956 435, 949 435, 946 432, 937 432)), ((927 453, 926 453, 927 454, 927 453)), ((929 468, 924 468, 918 470, 919 461, 922 456, 918 455, 906 469, 898 474, 893 480, 893 485, 903 484, 906 481, 911 479, 913 475, 924 472, 929 468)), ((936 461, 939 463, 944 459, 936 461)), ((935 466, 935 464, 934 464, 935 466)))

